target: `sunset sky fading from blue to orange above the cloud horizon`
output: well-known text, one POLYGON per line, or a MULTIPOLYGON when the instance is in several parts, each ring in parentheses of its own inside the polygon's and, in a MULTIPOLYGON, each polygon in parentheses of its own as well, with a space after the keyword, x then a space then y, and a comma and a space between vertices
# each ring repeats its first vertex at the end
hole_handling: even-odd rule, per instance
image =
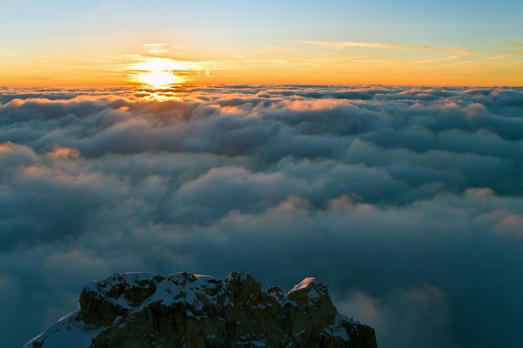
POLYGON ((523 83, 523 3, 1 1, 0 85, 523 83), (153 45, 158 44, 158 45, 153 45))

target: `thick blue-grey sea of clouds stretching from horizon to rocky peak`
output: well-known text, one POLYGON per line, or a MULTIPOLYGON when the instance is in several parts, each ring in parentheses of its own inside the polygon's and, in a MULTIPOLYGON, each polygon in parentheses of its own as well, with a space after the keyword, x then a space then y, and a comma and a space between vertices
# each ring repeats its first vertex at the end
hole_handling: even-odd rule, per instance
POLYGON ((0 337, 112 272, 328 284, 380 347, 523 342, 523 88, 0 89, 0 337))

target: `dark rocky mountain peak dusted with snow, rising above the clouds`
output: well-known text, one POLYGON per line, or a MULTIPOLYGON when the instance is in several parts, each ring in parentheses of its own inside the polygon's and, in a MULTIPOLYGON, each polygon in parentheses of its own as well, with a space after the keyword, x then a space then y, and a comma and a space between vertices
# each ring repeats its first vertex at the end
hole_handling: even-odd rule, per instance
POLYGON ((327 287, 304 279, 261 291, 226 279, 116 273, 92 281, 80 307, 25 347, 376 347, 374 329, 339 314, 327 287))

